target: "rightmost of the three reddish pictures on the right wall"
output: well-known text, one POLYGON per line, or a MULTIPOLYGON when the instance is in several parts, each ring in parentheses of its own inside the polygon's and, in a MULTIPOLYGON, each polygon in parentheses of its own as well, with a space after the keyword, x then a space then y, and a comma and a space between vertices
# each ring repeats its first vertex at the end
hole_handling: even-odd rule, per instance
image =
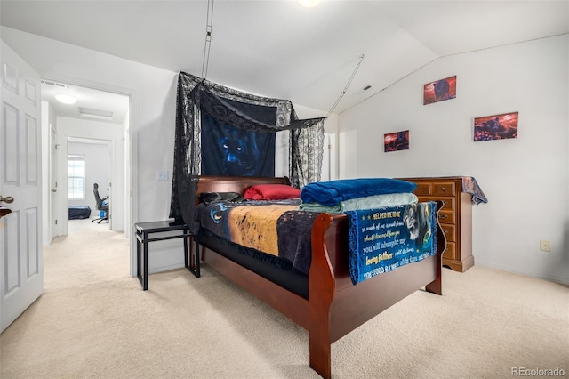
POLYGON ((476 117, 474 141, 493 141, 517 138, 517 112, 476 117))

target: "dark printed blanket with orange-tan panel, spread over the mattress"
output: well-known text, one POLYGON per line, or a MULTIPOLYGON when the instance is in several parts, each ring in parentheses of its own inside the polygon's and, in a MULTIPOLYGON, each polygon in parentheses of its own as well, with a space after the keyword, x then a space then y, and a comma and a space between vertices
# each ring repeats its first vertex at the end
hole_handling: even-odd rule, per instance
POLYGON ((196 208, 200 227, 240 246, 292 263, 308 275, 310 233, 318 213, 299 211, 300 200, 218 202, 196 208))

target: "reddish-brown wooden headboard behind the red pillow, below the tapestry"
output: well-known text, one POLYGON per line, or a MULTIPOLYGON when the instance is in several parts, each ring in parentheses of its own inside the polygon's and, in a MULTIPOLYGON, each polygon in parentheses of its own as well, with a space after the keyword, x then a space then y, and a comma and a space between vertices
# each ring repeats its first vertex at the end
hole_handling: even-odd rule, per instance
POLYGON ((286 176, 275 178, 263 178, 260 176, 213 176, 202 175, 197 182, 197 195, 202 192, 237 192, 244 194, 255 184, 287 184, 291 181, 286 176))

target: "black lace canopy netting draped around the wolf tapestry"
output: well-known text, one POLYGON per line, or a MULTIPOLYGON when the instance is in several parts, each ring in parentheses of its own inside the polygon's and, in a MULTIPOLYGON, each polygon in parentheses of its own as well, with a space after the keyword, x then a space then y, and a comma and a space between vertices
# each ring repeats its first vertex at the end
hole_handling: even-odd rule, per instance
POLYGON ((325 117, 300 120, 291 101, 243 93, 180 72, 170 217, 194 232, 199 175, 202 173, 202 115, 237 130, 289 131, 289 179, 301 189, 320 180, 325 117), (267 117, 271 113, 272 117, 267 117))

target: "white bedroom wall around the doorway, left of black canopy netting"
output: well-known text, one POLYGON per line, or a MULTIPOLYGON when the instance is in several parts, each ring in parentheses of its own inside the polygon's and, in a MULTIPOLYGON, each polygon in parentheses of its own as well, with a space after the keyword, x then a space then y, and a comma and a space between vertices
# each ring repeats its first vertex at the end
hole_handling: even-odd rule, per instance
MULTIPOLYGON (((2 27, 1 33, 42 77, 131 95, 133 219, 127 227, 165 220, 172 183, 157 181, 156 173, 168 171, 172 179, 177 73, 12 28, 2 27)), ((131 246, 136 247, 132 237, 131 246)), ((150 272, 182 267, 181 251, 175 242, 151 249, 150 272)), ((131 273, 135 263, 132 260, 131 273)))

